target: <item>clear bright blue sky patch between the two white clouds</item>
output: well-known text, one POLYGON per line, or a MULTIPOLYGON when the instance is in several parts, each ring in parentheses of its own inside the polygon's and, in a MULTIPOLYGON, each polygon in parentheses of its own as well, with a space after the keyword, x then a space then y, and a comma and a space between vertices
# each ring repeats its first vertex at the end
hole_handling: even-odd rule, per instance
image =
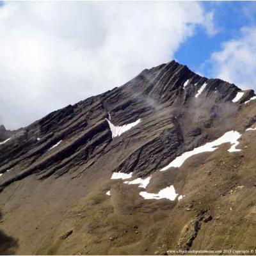
POLYGON ((195 34, 175 53, 175 58, 188 65, 193 71, 211 77, 212 67, 207 60, 212 52, 221 51, 221 44, 241 36, 241 28, 255 26, 256 2, 252 1, 206 1, 201 2, 204 10, 214 13, 216 35, 209 36, 198 26, 195 34))

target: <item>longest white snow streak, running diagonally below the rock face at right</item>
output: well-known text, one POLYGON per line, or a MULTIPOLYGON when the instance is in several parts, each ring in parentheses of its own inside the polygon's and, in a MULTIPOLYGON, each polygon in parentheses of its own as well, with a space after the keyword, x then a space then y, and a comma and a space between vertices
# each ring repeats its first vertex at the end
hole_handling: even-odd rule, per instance
POLYGON ((216 150, 223 143, 230 143, 232 146, 228 149, 228 152, 237 152, 241 151, 241 149, 236 149, 236 146, 239 144, 237 141, 242 134, 237 131, 229 131, 226 132, 223 136, 218 138, 217 140, 206 143, 203 146, 194 148, 191 151, 184 152, 181 156, 176 157, 170 164, 162 168, 160 171, 165 171, 170 167, 180 167, 182 164, 191 156, 196 154, 204 153, 204 152, 212 152, 216 150))

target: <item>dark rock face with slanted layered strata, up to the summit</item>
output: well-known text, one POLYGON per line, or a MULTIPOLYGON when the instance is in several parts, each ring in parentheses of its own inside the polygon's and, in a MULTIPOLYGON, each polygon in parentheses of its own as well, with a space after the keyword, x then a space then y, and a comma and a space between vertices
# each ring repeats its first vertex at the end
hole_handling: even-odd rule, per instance
MULTIPOLYGON (((1 179, 0 186, 4 188, 32 173, 45 179, 51 175, 60 177, 70 170, 76 172, 82 165, 88 168, 104 150, 118 147, 129 135, 138 139, 113 170, 143 177, 184 150, 204 143, 209 135, 201 130, 211 129, 220 118, 218 113, 225 111, 227 118, 236 113, 237 106, 230 100, 238 91, 234 84, 200 77, 175 61, 144 70, 120 88, 50 113, 1 145, 0 172, 11 168, 15 172, 12 177, 1 179), (204 83, 207 87, 196 99, 196 92, 204 83), (216 90, 218 93, 214 93, 216 90), (108 113, 115 125, 142 118, 140 134, 133 136, 131 131, 112 141, 104 119, 108 113), (63 142, 58 148, 47 151, 60 140, 63 142)), ((242 100, 250 99, 251 94, 242 100)), ((1 129, 5 131, 4 127, 1 129)))

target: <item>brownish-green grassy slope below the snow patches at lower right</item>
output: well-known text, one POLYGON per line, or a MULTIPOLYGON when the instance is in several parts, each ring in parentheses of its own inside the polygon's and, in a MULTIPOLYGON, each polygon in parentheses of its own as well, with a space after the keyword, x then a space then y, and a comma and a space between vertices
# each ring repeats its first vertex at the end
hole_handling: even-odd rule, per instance
POLYGON ((226 144, 215 152, 191 157, 180 169, 155 173, 147 190, 156 192, 175 184, 177 193, 186 195, 180 202, 143 200, 136 185, 106 182, 68 211, 37 253, 125 255, 177 248, 255 249, 255 138, 253 131, 243 135, 242 152, 228 153, 226 144), (105 195, 109 188, 111 196, 105 195), (200 221, 209 215, 212 220, 200 221), (200 230, 188 247, 196 220, 200 230), (73 233, 61 239, 68 230, 73 233))

